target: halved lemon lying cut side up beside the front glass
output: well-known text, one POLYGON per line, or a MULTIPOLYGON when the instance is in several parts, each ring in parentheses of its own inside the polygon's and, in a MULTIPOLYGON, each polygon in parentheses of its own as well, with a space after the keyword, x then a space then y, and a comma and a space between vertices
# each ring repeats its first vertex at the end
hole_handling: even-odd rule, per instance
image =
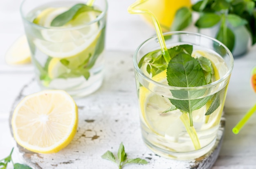
POLYGON ((20 101, 11 125, 20 146, 37 153, 56 153, 75 136, 77 106, 65 91, 40 91, 20 101))

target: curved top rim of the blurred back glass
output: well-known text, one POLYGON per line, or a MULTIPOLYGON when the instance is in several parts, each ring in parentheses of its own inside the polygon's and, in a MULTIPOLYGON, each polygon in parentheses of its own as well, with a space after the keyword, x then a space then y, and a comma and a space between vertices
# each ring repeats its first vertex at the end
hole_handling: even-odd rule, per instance
POLYGON ((38 24, 35 24, 29 20, 27 20, 26 16, 24 16, 24 13, 22 12, 22 7, 25 3, 25 1, 27 0, 22 0, 21 4, 20 4, 20 15, 21 15, 21 18, 29 23, 29 24, 32 24, 34 27, 38 27, 40 29, 58 29, 58 30, 65 30, 65 29, 68 29, 68 30, 73 30, 73 29, 81 29, 83 27, 87 27, 88 25, 90 24, 93 24, 95 22, 98 22, 99 20, 101 20, 104 16, 106 16, 106 13, 108 11, 108 1, 107 0, 103 0, 106 4, 106 7, 103 9, 103 11, 101 12, 101 14, 94 20, 90 21, 90 22, 87 22, 85 24, 82 24, 82 25, 79 25, 79 26, 76 26, 76 27, 68 27, 68 28, 64 28, 64 27, 43 27, 43 26, 40 26, 38 24))

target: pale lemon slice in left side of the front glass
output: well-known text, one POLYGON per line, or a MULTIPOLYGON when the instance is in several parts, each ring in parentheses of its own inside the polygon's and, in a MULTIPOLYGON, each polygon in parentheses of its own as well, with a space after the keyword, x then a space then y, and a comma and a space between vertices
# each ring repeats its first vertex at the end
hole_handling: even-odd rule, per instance
MULTIPOLYGON (((152 80, 166 83, 166 71, 162 71, 155 75, 152 80)), ((167 129, 173 124, 182 113, 180 110, 163 113, 172 106, 168 98, 153 93, 157 87, 150 84, 148 89, 144 86, 139 88, 139 104, 141 108, 141 115, 146 125, 158 135, 164 136, 167 129), (153 91, 153 92, 152 92, 153 91)), ((158 91, 159 92, 159 91, 158 91)), ((161 91, 163 94, 168 95, 171 93, 169 90, 161 91)))

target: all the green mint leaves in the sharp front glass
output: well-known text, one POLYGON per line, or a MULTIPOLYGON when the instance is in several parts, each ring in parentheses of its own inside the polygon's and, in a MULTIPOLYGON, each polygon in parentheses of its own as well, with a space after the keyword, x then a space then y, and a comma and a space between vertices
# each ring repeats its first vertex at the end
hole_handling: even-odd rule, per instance
MULTIPOLYGON (((168 63, 163 59, 160 50, 152 51, 146 54, 139 61, 138 66, 146 67, 146 71, 150 76, 167 70, 167 82, 170 86, 175 87, 198 87, 210 84, 212 76, 214 76, 211 60, 200 56, 193 58, 193 46, 182 44, 168 49, 171 57, 168 63), (167 66, 166 66, 167 65, 167 66)), ((210 115, 220 106, 219 92, 203 97, 206 89, 199 90, 171 90, 174 98, 169 98, 172 106, 163 113, 179 109, 183 113, 189 113, 190 126, 193 126, 192 112, 200 109, 207 103, 210 107, 205 115, 210 115), (203 97, 203 98, 200 98, 203 97), (199 98, 199 99, 197 99, 199 98)))

